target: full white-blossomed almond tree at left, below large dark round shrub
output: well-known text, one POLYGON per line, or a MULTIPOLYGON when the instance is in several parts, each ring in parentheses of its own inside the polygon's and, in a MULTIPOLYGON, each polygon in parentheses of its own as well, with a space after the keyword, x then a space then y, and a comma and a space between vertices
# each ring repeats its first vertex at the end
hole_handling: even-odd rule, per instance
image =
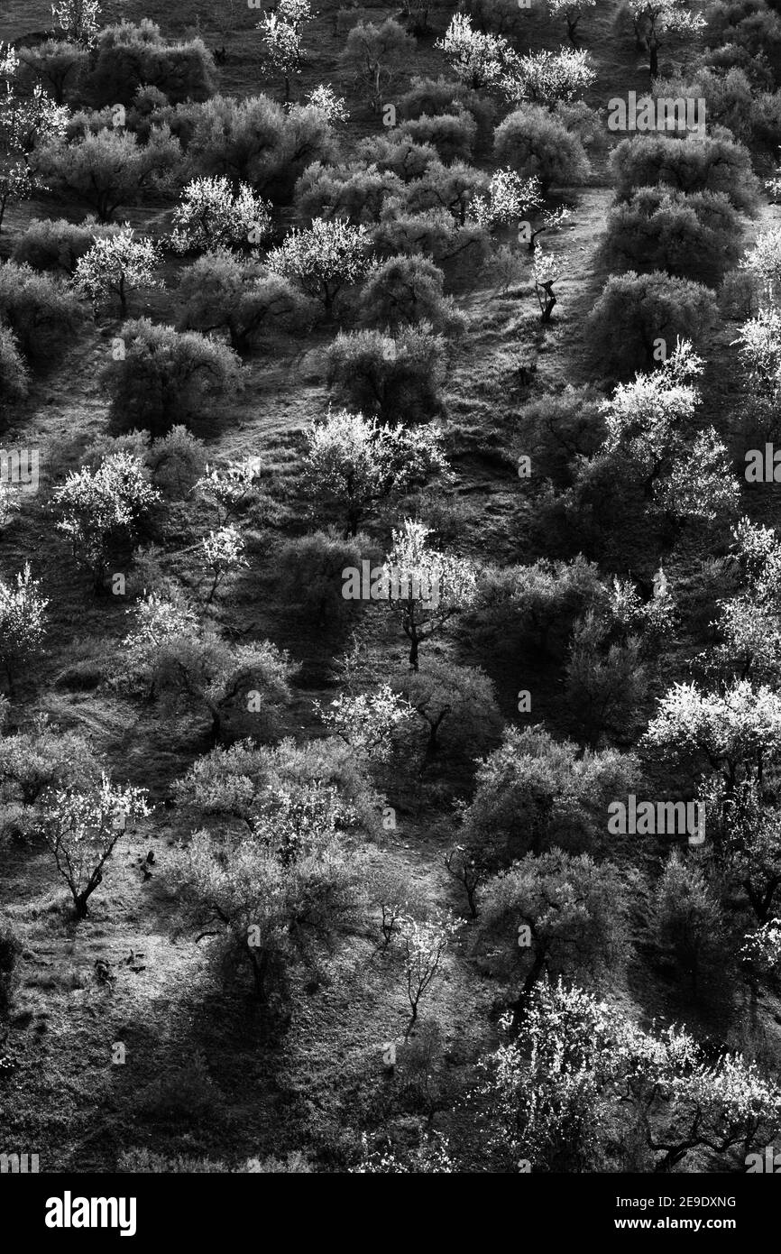
POLYGON ((97 470, 73 470, 54 490, 56 529, 68 535, 78 566, 88 569, 95 591, 103 586, 109 554, 118 540, 129 540, 159 500, 142 461, 113 453, 97 470))

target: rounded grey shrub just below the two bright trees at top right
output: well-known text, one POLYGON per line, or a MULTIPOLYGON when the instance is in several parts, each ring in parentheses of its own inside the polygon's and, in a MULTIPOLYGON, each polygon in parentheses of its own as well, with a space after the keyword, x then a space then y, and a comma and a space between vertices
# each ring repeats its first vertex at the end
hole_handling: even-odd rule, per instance
POLYGON ((579 137, 539 104, 522 104, 496 127, 494 157, 522 177, 537 176, 543 191, 583 183, 590 169, 579 137))

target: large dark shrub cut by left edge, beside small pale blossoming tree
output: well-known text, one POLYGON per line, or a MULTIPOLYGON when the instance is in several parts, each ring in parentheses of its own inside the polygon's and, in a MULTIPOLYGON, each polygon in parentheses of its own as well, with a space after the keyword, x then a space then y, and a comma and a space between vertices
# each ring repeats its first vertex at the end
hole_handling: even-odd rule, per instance
POLYGON ((78 297, 64 283, 13 261, 0 265, 0 324, 25 357, 56 359, 80 319, 78 297))

